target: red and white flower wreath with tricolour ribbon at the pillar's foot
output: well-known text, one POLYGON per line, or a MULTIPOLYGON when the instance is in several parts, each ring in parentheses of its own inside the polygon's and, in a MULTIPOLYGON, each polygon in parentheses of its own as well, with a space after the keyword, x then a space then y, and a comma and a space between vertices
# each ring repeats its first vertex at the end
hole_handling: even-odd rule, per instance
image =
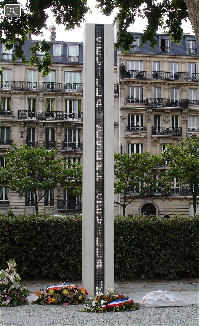
POLYGON ((129 310, 139 310, 139 307, 128 296, 114 294, 114 289, 107 288, 107 293, 97 292, 81 311, 102 313, 129 310))

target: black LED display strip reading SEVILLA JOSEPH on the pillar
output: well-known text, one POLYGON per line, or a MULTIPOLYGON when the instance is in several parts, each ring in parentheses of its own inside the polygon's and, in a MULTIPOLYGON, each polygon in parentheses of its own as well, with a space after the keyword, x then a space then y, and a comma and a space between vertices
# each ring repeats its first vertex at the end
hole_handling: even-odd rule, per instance
POLYGON ((95 291, 104 292, 104 25, 95 24, 95 291))

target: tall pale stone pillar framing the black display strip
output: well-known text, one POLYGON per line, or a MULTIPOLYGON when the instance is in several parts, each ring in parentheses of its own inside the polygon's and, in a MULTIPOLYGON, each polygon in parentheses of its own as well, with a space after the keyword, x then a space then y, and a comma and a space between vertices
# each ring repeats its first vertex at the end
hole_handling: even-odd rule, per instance
MULTIPOLYGON (((114 287, 114 80, 113 25, 104 25, 104 285, 114 287)), ((83 234, 82 282, 95 291, 95 24, 86 24, 83 42, 83 234)), ((98 233, 96 233, 98 236, 98 233)), ((101 245, 99 246, 101 251, 101 245)), ((99 261, 100 261, 100 256, 99 261)), ((98 260, 97 260, 98 261, 98 260)), ((98 263, 100 266, 101 263, 98 263)), ((99 267, 101 268, 101 267, 99 267)), ((101 270, 100 270, 101 271, 101 270)))

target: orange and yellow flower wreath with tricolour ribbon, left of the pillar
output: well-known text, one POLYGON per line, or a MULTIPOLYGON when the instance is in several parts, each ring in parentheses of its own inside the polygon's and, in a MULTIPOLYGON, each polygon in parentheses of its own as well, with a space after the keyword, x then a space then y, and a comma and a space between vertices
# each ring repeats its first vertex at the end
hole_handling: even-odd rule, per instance
POLYGON ((50 285, 47 289, 34 292, 37 299, 32 304, 86 304, 87 290, 71 283, 50 285))

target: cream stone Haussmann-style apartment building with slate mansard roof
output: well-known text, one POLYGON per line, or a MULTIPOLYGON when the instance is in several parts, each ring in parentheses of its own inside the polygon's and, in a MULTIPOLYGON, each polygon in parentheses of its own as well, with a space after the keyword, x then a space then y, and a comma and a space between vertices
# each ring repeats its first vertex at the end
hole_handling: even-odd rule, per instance
MULTIPOLYGON (((116 41, 118 21, 114 19, 113 24, 116 41)), ((82 164, 83 43, 56 41, 53 25, 50 31, 53 64, 45 78, 36 66, 21 60, 13 63, 12 50, 1 45, 1 166, 5 166, 6 151, 13 142, 19 147, 26 143, 56 148, 56 157, 82 164)), ((158 45, 152 49, 150 42, 140 46, 142 33, 132 34, 135 42, 129 51, 114 50, 114 151, 160 155, 166 144, 178 145, 185 137, 198 135, 198 42, 186 34, 175 44, 162 33, 156 35, 158 45)), ((29 35, 24 45, 27 59, 34 42, 29 35)), ((44 54, 38 55, 42 60, 44 54)), ((165 169, 166 165, 154 167, 154 178, 165 169)), ((137 198, 126 207, 126 214, 193 215, 189 187, 176 183, 174 180, 169 194, 157 189, 137 198)), ((1 212, 33 214, 33 193, 28 192, 27 197, 29 200, 1 187, 1 212)), ((115 201, 122 200, 122 195, 115 195, 115 201)), ((81 213, 82 200, 57 185, 40 201, 39 212, 44 211, 52 215, 81 213)), ((121 213, 115 204, 115 215, 121 213)))

